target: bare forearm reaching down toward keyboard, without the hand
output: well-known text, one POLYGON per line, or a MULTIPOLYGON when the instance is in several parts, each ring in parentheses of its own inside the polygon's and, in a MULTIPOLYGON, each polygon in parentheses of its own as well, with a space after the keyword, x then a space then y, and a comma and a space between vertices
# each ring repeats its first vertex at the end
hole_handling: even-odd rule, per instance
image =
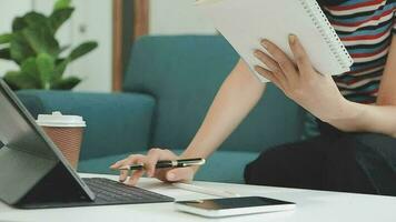
POLYGON ((264 90, 265 84, 240 60, 218 91, 182 157, 210 155, 256 105, 264 90))

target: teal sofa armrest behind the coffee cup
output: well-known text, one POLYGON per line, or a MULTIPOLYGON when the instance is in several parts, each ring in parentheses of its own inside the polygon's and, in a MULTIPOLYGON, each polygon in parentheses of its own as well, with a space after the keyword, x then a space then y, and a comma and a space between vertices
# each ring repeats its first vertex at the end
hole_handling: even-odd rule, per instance
POLYGON ((87 121, 80 159, 147 150, 155 99, 141 93, 77 93, 19 91, 22 103, 37 118, 61 111, 87 121))

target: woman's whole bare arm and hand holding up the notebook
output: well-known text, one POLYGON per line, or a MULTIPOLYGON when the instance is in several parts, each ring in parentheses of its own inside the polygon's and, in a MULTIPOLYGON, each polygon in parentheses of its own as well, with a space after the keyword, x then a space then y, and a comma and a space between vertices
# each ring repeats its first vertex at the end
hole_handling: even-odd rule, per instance
POLYGON ((303 46, 290 36, 290 48, 296 64, 277 46, 263 41, 271 54, 260 50, 258 57, 270 70, 256 67, 267 79, 277 84, 289 98, 320 120, 347 132, 376 132, 396 137, 396 37, 388 54, 376 105, 346 100, 331 77, 317 73, 303 46))

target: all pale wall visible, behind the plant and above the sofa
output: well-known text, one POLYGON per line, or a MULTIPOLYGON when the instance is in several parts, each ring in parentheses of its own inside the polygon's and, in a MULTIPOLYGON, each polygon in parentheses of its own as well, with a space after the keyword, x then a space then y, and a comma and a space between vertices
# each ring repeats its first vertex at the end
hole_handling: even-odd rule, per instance
MULTIPOLYGON (((34 9, 49 13, 55 0, 0 0, 0 33, 11 30, 16 16, 34 9)), ((194 7, 195 0, 150 0, 150 34, 214 34, 209 19, 194 7)), ((71 64, 67 74, 83 78, 78 91, 111 90, 112 72, 112 0, 73 0, 77 10, 60 30, 61 44, 77 46, 83 40, 96 40, 99 48, 71 64), (81 29, 86 31, 81 31, 81 29)), ((18 69, 12 62, 0 61, 0 77, 18 69)))

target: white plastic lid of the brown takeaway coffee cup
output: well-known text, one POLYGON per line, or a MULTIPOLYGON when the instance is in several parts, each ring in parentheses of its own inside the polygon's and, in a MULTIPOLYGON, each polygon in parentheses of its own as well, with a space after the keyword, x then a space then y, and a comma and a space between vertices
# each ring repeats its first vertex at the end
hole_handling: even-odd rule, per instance
POLYGON ((52 112, 52 114, 39 114, 37 124, 41 127, 52 128, 85 128, 86 121, 79 115, 63 115, 61 112, 52 112))

